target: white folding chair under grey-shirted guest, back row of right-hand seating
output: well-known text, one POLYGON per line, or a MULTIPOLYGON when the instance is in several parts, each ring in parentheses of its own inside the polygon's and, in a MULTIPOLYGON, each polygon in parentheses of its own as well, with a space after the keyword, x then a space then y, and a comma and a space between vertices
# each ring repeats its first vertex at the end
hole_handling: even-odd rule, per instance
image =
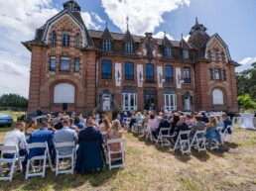
POLYGON ((193 145, 196 145, 197 150, 201 151, 201 150, 206 150, 206 139, 205 139, 205 130, 202 131, 196 131, 193 138, 192 138, 192 142, 190 143, 191 147, 193 145))

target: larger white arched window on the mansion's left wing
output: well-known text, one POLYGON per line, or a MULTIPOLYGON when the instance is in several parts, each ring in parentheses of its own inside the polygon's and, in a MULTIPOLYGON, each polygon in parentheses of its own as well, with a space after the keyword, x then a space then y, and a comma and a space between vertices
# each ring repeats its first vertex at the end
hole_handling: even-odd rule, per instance
POLYGON ((69 83, 59 83, 54 90, 54 103, 74 103, 74 86, 69 83))

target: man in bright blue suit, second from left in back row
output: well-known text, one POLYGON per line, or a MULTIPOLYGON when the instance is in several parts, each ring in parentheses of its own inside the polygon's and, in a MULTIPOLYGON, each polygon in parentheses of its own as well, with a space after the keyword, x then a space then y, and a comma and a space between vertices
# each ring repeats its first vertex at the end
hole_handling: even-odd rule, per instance
MULTIPOLYGON (((54 149, 54 132, 48 130, 48 122, 42 122, 42 128, 34 132, 28 141, 28 143, 48 143, 50 155, 53 156, 53 149, 54 149)), ((32 148, 29 152, 29 158, 36 156, 36 155, 44 155, 45 148, 32 148)))

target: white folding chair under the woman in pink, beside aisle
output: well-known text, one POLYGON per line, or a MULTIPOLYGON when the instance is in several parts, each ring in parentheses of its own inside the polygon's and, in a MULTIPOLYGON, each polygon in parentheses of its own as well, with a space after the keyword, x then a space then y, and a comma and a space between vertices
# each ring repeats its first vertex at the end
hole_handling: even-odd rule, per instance
POLYGON ((107 140, 107 155, 108 155, 109 170, 111 170, 112 168, 124 167, 124 139, 107 140), (120 150, 112 151, 110 149, 111 143, 120 143, 121 145, 120 150), (112 158, 111 154, 117 154, 117 153, 121 154, 121 157, 112 158), (121 162, 118 164, 113 164, 113 162, 117 160, 121 160, 121 162))

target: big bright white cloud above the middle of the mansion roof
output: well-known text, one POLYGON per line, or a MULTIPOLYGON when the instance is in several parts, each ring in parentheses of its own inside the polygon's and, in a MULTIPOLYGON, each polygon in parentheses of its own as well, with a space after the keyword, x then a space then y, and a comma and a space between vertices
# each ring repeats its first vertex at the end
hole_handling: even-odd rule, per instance
POLYGON ((179 6, 190 5, 190 0, 102 0, 102 6, 110 20, 122 32, 126 31, 126 17, 133 34, 154 33, 164 22, 163 15, 179 6))

